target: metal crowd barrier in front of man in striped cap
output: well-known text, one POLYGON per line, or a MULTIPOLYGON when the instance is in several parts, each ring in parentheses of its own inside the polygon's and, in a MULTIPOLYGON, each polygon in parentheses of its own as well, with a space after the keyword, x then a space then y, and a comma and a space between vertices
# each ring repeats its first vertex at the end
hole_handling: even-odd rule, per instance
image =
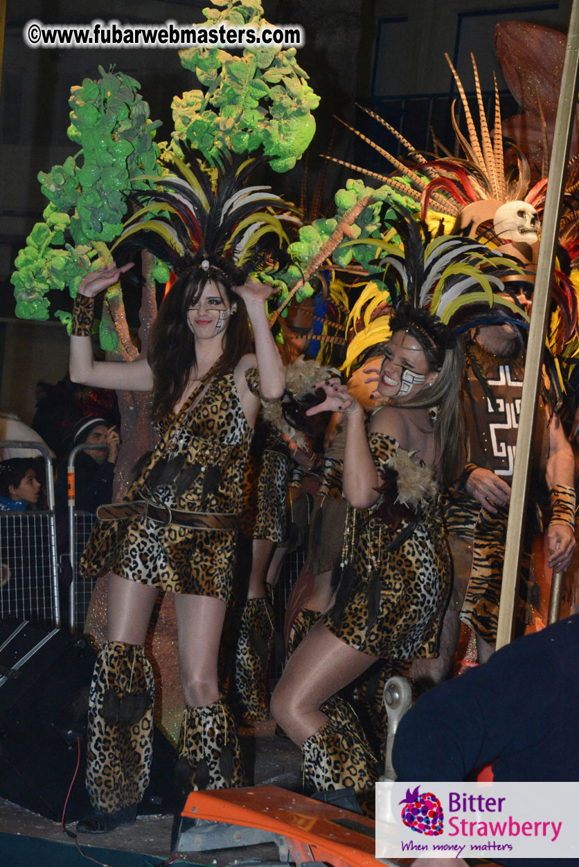
POLYGON ((81 558, 90 532, 95 523, 95 515, 92 512, 82 512, 76 508, 75 500, 75 460, 79 452, 85 450, 106 451, 106 446, 98 446, 95 443, 81 442, 75 446, 69 454, 67 466, 69 485, 69 561, 72 570, 72 583, 70 584, 69 617, 70 629, 73 632, 82 632, 84 622, 89 610, 90 596, 92 596, 94 581, 83 581, 78 575, 78 561, 81 558))

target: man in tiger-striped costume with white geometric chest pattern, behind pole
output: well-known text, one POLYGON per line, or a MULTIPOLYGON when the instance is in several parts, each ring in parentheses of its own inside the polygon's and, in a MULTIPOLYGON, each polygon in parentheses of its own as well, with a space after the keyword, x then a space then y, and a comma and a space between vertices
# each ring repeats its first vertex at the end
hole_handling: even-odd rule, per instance
MULTIPOLYGON (((488 659, 497 636, 524 361, 510 325, 485 326, 472 337, 464 383, 469 463, 444 504, 455 573, 446 629, 457 636, 460 612, 460 619, 477 636, 479 662, 488 659)), ((567 569, 576 547, 575 462, 559 417, 543 396, 537 408, 531 473, 533 499, 525 527, 517 607, 522 625, 533 620, 531 606, 538 587, 530 541, 542 529, 542 517, 547 525, 549 568, 567 569)))

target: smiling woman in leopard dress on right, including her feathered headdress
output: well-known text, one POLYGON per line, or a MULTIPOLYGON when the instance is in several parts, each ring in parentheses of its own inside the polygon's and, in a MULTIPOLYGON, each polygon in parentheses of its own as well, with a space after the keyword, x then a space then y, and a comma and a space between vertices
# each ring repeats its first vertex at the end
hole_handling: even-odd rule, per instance
MULTIPOLYGON (((271 702, 301 746, 306 789, 351 787, 365 793, 366 805, 378 765, 339 692, 378 660, 382 671, 407 674, 412 660, 438 654, 451 588, 439 492, 457 479, 465 458, 459 335, 464 323, 488 317, 490 304, 498 307, 498 296, 481 292, 481 283, 503 289, 476 242, 431 243, 406 213, 396 227, 403 248, 387 245, 384 284, 362 290, 348 323, 345 368, 366 351, 382 355, 366 380, 377 382, 372 396, 382 405, 366 425, 362 406, 333 378, 317 383, 326 401, 308 411, 344 414, 349 508, 335 603, 290 657, 271 702), (479 267, 488 269, 484 278, 479 267)), ((492 314, 497 322, 507 315, 492 314)))

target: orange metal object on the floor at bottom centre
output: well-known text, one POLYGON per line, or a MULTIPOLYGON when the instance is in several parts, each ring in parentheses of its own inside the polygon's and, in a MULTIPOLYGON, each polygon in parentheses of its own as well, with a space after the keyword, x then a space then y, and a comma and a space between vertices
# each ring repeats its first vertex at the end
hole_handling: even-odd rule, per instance
POLYGON ((279 786, 191 792, 181 816, 271 831, 286 839, 297 864, 374 867, 372 819, 279 786))

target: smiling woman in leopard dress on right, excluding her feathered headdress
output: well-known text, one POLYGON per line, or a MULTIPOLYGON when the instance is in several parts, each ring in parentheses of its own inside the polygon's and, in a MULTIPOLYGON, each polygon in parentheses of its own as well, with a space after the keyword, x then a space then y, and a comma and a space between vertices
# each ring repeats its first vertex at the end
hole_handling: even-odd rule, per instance
POLYGON ((340 411, 347 422, 342 577, 334 607, 287 663, 272 711, 301 745, 313 790, 372 788, 370 747, 336 693, 378 658, 436 655, 450 590, 438 484, 455 478, 464 460, 462 352, 459 342, 441 340, 444 329, 424 310, 398 307, 390 326, 378 381, 389 405, 372 415, 368 433, 362 407, 338 379, 319 383, 326 401, 309 410, 340 411))

